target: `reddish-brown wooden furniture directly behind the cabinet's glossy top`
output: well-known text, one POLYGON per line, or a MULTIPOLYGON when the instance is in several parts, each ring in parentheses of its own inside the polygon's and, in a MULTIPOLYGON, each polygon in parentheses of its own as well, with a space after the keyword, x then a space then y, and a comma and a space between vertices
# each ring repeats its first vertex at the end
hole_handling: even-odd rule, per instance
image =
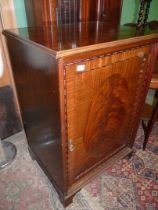
POLYGON ((106 21, 118 25, 122 0, 25 0, 28 26, 106 21))

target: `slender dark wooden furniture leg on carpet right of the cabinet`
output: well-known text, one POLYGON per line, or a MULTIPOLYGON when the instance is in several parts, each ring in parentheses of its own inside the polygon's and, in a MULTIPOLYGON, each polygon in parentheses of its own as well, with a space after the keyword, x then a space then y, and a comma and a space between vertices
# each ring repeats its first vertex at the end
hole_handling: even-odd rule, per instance
POLYGON ((156 103, 156 106, 152 112, 152 115, 151 115, 151 119, 149 120, 149 122, 147 123, 147 126, 145 125, 144 121, 142 122, 142 126, 143 126, 143 129, 144 129, 144 143, 143 143, 143 150, 145 150, 146 148, 146 145, 148 143, 148 140, 149 140, 149 136, 150 136, 150 133, 152 131, 152 128, 153 128, 153 125, 156 121, 156 118, 158 116, 158 102, 156 103))

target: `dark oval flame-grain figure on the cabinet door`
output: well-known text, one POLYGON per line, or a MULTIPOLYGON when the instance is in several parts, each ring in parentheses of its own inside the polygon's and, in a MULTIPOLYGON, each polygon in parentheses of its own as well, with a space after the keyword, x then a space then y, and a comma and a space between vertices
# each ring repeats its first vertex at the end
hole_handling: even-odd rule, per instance
MULTIPOLYGON (((100 82, 102 78, 98 80, 100 82)), ((87 152, 92 155, 104 152, 103 145, 109 139, 119 139, 120 124, 124 124, 129 109, 129 88, 125 78, 115 73, 101 83, 89 107, 83 138, 87 152)))

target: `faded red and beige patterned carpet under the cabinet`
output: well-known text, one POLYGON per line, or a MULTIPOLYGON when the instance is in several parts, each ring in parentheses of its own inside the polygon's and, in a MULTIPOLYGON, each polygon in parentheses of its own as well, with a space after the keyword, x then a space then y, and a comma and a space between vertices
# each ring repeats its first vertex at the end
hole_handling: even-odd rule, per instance
MULTIPOLYGON (((36 161, 30 158, 23 132, 7 140, 18 148, 14 162, 0 171, 0 210, 63 210, 58 196, 36 161)), ((74 197, 67 210, 157 210, 158 124, 146 151, 139 129, 135 154, 105 170, 74 197)))

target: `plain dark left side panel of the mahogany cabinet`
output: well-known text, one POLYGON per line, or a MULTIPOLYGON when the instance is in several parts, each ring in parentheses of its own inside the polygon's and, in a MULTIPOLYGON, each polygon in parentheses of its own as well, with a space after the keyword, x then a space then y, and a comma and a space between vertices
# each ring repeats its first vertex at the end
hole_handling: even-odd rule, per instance
POLYGON ((29 147, 63 191, 57 61, 46 51, 10 36, 7 44, 29 147))

